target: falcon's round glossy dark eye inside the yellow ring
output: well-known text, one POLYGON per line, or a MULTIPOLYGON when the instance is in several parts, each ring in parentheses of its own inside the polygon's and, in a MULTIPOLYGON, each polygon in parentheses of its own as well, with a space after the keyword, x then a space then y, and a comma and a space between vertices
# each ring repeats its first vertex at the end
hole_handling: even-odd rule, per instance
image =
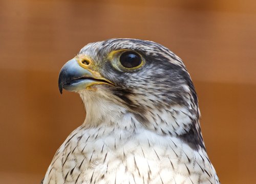
POLYGON ((139 66, 142 62, 140 55, 133 51, 123 52, 119 60, 125 68, 133 68, 139 66))

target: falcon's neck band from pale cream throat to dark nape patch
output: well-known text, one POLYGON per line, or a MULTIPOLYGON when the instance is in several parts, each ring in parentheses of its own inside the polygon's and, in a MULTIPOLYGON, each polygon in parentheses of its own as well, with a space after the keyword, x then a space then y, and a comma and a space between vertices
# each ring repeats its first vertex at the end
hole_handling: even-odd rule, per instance
POLYGON ((109 99, 80 96, 87 113, 84 127, 110 127, 129 134, 144 129, 160 136, 180 137, 193 147, 204 147, 199 113, 189 106, 173 104, 168 108, 134 113, 109 99))

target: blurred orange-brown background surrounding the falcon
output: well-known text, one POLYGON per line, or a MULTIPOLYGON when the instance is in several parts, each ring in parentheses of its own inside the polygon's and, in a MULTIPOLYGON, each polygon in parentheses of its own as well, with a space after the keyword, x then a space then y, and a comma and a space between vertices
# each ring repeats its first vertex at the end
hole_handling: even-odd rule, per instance
POLYGON ((62 65, 89 42, 159 42, 195 83, 206 148, 222 183, 254 183, 256 8, 252 0, 0 1, 0 183, 38 183, 80 125, 59 94, 62 65))

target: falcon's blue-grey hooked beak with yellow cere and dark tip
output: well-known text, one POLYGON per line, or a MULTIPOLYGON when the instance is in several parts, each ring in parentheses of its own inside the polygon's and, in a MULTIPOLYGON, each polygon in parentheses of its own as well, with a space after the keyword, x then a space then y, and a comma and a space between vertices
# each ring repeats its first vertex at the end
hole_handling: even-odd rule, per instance
POLYGON ((77 56, 68 61, 59 72, 59 92, 62 94, 63 88, 68 91, 78 91, 98 84, 114 86, 99 72, 90 69, 91 65, 92 61, 87 57, 84 59, 77 56))

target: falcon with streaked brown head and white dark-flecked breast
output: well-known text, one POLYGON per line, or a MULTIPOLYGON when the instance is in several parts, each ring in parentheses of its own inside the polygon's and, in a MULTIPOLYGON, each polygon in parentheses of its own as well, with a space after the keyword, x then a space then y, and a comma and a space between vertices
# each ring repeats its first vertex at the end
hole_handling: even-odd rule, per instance
POLYGON ((43 184, 220 183, 182 60, 138 39, 89 43, 59 73, 86 118, 60 146, 43 184))

